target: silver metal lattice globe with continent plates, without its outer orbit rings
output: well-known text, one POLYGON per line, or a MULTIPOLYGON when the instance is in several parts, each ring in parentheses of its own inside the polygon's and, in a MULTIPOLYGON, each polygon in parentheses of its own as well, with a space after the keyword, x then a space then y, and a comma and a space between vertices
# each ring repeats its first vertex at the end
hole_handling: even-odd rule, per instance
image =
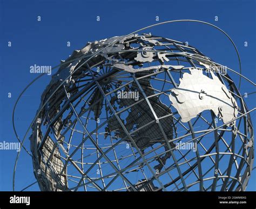
POLYGON ((253 127, 227 70, 151 34, 74 51, 43 92, 32 127, 39 187, 244 191, 253 127))

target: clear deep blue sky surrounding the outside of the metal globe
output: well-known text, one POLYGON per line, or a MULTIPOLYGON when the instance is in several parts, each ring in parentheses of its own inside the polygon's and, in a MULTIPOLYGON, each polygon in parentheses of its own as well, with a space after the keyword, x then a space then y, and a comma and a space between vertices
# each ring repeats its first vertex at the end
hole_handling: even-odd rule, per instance
MULTIPOLYGON (((0 141, 16 141, 12 130, 12 109, 19 93, 37 75, 29 66, 59 64, 73 50, 88 41, 126 35, 156 22, 197 19, 226 31, 239 50, 242 74, 255 81, 255 1, 14 1, 0 0, 0 141), (41 22, 37 21, 41 16, 41 22), (100 16, 100 21, 96 21, 100 16), (218 16, 218 22, 214 17, 218 16), (8 42, 12 43, 8 47, 8 42), (244 47, 244 42, 248 47, 244 47), (66 43, 71 42, 67 47, 66 43), (12 97, 8 98, 11 92, 12 97)), ((219 31, 199 23, 173 23, 157 26, 152 34, 182 42, 188 41, 215 62, 238 71, 238 58, 232 44, 219 31)), ((237 76, 230 74, 237 81, 237 76)), ((50 77, 44 76, 25 93, 17 107, 17 132, 23 137, 35 116, 40 96, 50 77)), ((254 87, 242 82, 241 93, 254 87)), ((255 107, 254 95, 246 98, 255 107)), ((252 113, 255 126, 255 112, 252 113)), ((25 146, 29 149, 29 140, 25 146)), ((12 171, 16 151, 0 151, 0 191, 12 190, 12 171)), ((256 170, 247 188, 256 190, 256 170)), ((30 157, 21 153, 16 188, 33 183, 30 157)), ((35 185, 30 190, 38 190, 35 185)))

